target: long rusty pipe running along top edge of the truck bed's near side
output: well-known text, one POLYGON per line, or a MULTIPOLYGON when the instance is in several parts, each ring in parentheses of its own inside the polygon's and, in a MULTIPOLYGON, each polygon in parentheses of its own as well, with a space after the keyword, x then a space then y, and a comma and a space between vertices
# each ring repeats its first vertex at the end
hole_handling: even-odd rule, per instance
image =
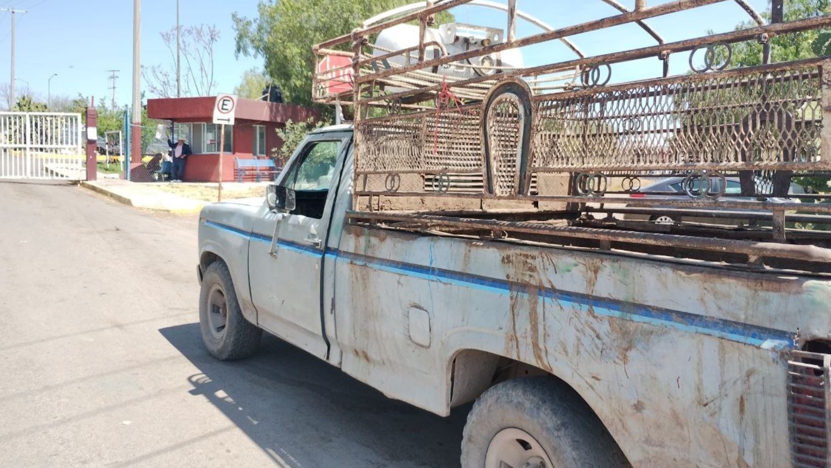
POLYGON ((735 239, 698 238, 694 236, 676 234, 634 233, 598 228, 553 226, 550 224, 525 221, 451 218, 447 216, 436 216, 434 214, 417 213, 347 211, 347 219, 416 222, 461 229, 498 229, 506 233, 543 234, 568 238, 596 239, 610 242, 656 245, 677 249, 694 249, 720 253, 745 254, 752 257, 794 259, 823 264, 831 263, 831 249, 823 249, 814 245, 789 245, 735 239))

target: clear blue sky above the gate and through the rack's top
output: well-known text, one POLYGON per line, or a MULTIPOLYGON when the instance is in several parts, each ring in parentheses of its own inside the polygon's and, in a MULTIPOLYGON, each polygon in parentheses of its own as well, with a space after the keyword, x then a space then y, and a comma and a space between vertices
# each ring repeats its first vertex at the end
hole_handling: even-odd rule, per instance
MULTIPOLYGON (((504 0, 498 0, 504 2, 504 0)), ((668 0, 648 0, 649 5, 668 0)), ((180 0, 183 26, 214 24, 222 37, 217 46, 216 72, 218 91, 231 91, 238 84, 243 71, 258 67, 261 60, 234 57, 234 30, 231 13, 253 17, 257 12, 255 0, 180 0)), ((634 0, 622 3, 632 8, 634 0)), ((757 11, 765 10, 766 0, 750 0, 757 11)), ((119 69, 116 102, 130 101, 132 63, 132 0, 0 0, 0 6, 28 9, 17 15, 17 81, 18 89, 28 86, 45 98, 47 80, 52 73, 52 96, 96 96, 106 98, 110 91, 107 80, 109 69, 119 69)), ((616 10, 600 0, 519 0, 519 8, 548 22, 563 27, 575 22, 586 22, 611 16, 616 10)), ((504 16, 479 7, 455 9, 459 22, 504 27, 504 16)), ((11 37, 11 15, 0 13, 0 83, 8 81, 11 37)), ((746 19, 735 2, 722 2, 701 7, 683 15, 670 15, 650 20, 667 42, 706 34, 707 29, 725 32, 746 19)), ((141 9, 141 54, 145 65, 169 61, 160 32, 175 26, 175 0, 143 0, 141 9)), ((520 23, 519 36, 538 32, 527 23, 520 23)), ((615 52, 631 47, 653 45, 634 25, 617 27, 603 33, 586 33, 573 37, 587 55, 615 52)), ((526 65, 558 62, 573 57, 565 47, 544 45, 524 50, 526 65)), ((672 71, 686 71, 686 55, 671 61, 672 71)), ((655 59, 616 67, 613 81, 656 76, 661 64, 655 59)))

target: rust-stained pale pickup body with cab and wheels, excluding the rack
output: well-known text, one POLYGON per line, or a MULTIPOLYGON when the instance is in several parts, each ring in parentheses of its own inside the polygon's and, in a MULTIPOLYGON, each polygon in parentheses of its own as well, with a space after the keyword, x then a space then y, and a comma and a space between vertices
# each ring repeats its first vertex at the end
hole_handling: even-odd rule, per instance
POLYGON ((265 330, 438 415, 475 400, 465 468, 827 466, 831 278, 366 222, 352 145, 316 131, 262 205, 203 209, 214 357, 265 330))

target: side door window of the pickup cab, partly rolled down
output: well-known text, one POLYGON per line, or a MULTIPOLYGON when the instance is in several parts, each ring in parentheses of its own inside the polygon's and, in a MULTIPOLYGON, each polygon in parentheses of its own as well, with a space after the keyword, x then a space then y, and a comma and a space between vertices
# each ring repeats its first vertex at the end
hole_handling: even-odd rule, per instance
POLYGON ((337 155, 341 140, 313 141, 306 145, 302 155, 289 170, 283 185, 293 189, 297 205, 292 214, 321 219, 329 188, 335 180, 337 155))

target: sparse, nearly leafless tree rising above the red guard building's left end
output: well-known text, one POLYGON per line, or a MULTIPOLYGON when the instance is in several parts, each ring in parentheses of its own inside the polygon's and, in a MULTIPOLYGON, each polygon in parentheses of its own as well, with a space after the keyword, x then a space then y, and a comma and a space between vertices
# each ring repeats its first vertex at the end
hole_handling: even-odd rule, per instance
MULTIPOLYGON (((170 53, 165 65, 141 67, 141 77, 150 94, 159 97, 176 97, 176 28, 160 33, 170 53)), ((219 42, 219 30, 215 26, 183 27, 181 42, 181 93, 182 96, 213 96, 214 46, 219 42)))

